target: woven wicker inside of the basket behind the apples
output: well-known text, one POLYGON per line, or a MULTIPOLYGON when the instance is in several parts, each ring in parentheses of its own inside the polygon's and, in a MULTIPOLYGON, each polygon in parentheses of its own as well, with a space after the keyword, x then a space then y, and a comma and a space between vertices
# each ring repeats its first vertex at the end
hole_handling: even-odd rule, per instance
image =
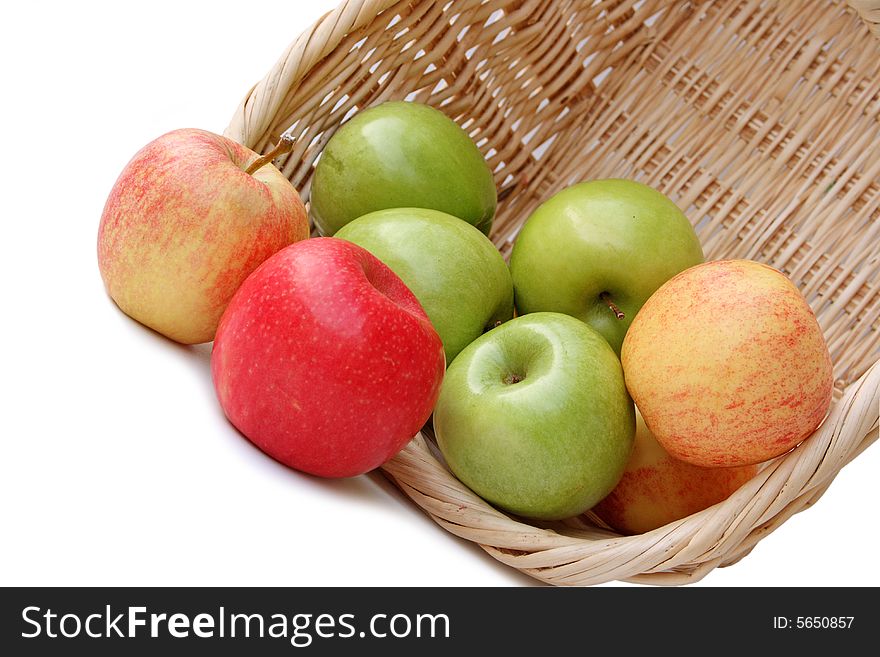
POLYGON ((252 147, 308 199, 354 112, 407 98, 476 141, 507 255, 530 212, 590 178, 655 186, 708 259, 761 260, 806 295, 842 390, 880 356, 880 56, 843 4, 492 0, 392 4, 286 93, 252 147))

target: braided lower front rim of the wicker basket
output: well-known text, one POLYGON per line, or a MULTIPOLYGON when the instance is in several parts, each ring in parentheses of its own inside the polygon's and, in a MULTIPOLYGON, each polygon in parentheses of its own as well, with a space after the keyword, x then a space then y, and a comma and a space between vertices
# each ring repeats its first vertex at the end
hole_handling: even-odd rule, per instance
MULTIPOLYGON (((772 485, 784 493, 785 500, 780 502, 778 498, 774 498, 764 510, 745 508, 736 511, 733 507, 738 504, 738 501, 734 499, 736 497, 734 495, 709 509, 648 533, 652 536, 663 534, 665 537, 659 543, 664 545, 668 543, 666 538, 684 534, 690 535, 700 545, 708 545, 713 543, 712 537, 709 536, 711 533, 709 527, 714 525, 724 529, 725 536, 737 534, 738 540, 730 550, 719 551, 716 545, 705 551, 707 557, 705 560, 696 560, 690 563, 690 557, 694 556, 695 552, 700 552, 700 549, 689 549, 692 546, 690 545, 691 540, 688 540, 686 546, 675 551, 676 554, 665 556, 667 565, 672 570, 649 569, 648 571, 628 572, 627 569, 621 567, 621 564, 617 564, 608 573, 609 576, 605 576, 604 573, 597 573, 597 568, 594 565, 590 568, 592 572, 587 576, 588 581, 583 583, 594 585, 614 580, 625 580, 641 584, 687 584, 702 579, 716 567, 727 565, 728 562, 735 562, 748 554, 760 539, 784 524, 789 517, 815 503, 840 470, 877 440, 878 425, 880 425, 880 360, 876 361, 858 380, 847 386, 843 398, 835 403, 825 422, 807 439, 819 436, 819 440, 813 442, 813 448, 809 450, 809 453, 802 449, 806 447, 802 444, 798 449, 779 458, 777 463, 780 466, 778 468, 780 472, 777 473, 778 476, 774 478, 775 481, 772 485), (823 447, 825 442, 828 445, 823 447), (813 466, 805 465, 815 459, 818 459, 818 462, 813 466), (786 467, 782 468, 783 465, 786 467), (791 485, 791 479, 795 477, 805 480, 805 485, 797 490, 791 485), (744 531, 741 521, 743 516, 749 515, 754 516, 754 525, 747 527, 748 531, 744 531), (725 519, 731 520, 726 522, 725 519), (691 524, 693 527, 686 527, 691 524), (753 537, 753 535, 755 536, 753 537), (679 552, 681 554, 678 554, 679 552), (735 555, 736 558, 730 560, 729 557, 732 555, 735 555)), ((577 581, 574 581, 577 579, 576 574, 565 575, 562 581, 558 581, 559 578, 554 576, 553 567, 535 567, 533 563, 530 563, 534 561, 532 555, 541 552, 576 550, 577 547, 573 543, 577 543, 578 539, 558 534, 552 529, 529 526, 532 530, 529 534, 536 541, 534 551, 523 550, 525 545, 514 546, 504 543, 504 541, 498 541, 504 543, 503 545, 490 544, 491 539, 497 539, 506 533, 497 525, 499 516, 507 518, 511 527, 522 523, 505 516, 485 502, 472 508, 475 516, 478 517, 478 522, 474 525, 468 527, 466 524, 458 522, 464 520, 464 516, 467 515, 465 506, 460 506, 460 503, 449 504, 435 500, 413 487, 411 484, 414 482, 406 481, 407 473, 412 474, 414 469, 418 469, 418 463, 425 461, 425 459, 433 460, 434 457, 423 443, 414 441, 404 452, 382 466, 382 474, 434 522, 460 538, 477 543, 496 560, 545 583, 554 585, 578 584, 577 581), (430 508, 432 506, 436 508, 432 510, 430 508), (452 515, 449 515, 450 513, 452 515), (443 515, 447 517, 443 517, 443 515), (457 517, 459 515, 462 517, 457 517), (483 527, 476 525, 483 525, 483 527), (481 538, 485 540, 480 540, 481 538)), ((432 467, 442 467, 436 462, 431 465, 432 467)), ((451 476, 450 474, 449 477, 451 476)), ((770 477, 765 476, 764 478, 769 479, 770 477)), ((766 482, 762 485, 765 484, 766 482)), ((458 482, 458 486, 461 488, 463 499, 473 497, 473 493, 470 493, 464 484, 458 482)), ((622 536, 607 540, 615 545, 619 544, 621 551, 625 551, 628 542, 635 543, 642 536, 646 535, 622 536)), ((654 541, 654 538, 651 540, 654 541)), ((581 541, 584 546, 587 545, 586 541, 583 539, 581 541)), ((663 548, 661 551, 665 552, 666 549, 663 548)), ((645 552, 641 550, 637 550, 637 552, 642 557, 645 556, 645 552)), ((582 558, 588 560, 591 557, 582 558)), ((572 558, 559 566, 568 566, 577 561, 579 559, 572 558)))

